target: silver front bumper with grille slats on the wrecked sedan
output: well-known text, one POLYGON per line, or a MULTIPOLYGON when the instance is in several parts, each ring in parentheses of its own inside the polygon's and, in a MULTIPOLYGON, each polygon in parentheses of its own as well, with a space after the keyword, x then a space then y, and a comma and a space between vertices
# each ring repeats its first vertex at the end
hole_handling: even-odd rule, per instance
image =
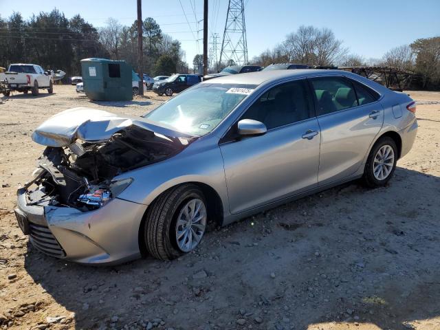
POLYGON ((145 205, 115 198, 98 210, 82 212, 65 206, 30 205, 25 189, 17 194, 20 228, 45 254, 101 265, 140 256, 138 234, 145 205))

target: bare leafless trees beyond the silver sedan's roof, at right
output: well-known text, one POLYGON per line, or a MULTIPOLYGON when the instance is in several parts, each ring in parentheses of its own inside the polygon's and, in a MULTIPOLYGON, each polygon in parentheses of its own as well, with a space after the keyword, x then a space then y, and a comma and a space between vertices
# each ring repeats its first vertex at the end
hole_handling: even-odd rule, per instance
POLYGON ((395 47, 382 58, 350 54, 342 41, 328 28, 300 26, 287 34, 272 50, 265 50, 251 61, 256 65, 298 63, 323 67, 387 66, 413 72, 423 89, 440 88, 440 36, 417 39, 410 45, 395 47))

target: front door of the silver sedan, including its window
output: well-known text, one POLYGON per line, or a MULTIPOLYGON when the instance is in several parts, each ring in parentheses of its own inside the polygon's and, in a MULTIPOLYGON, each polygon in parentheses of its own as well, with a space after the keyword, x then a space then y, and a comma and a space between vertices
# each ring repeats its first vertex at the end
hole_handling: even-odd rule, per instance
POLYGON ((284 83, 240 118, 263 122, 267 133, 240 139, 232 126, 220 144, 232 214, 317 186, 320 129, 311 104, 304 80, 284 83))

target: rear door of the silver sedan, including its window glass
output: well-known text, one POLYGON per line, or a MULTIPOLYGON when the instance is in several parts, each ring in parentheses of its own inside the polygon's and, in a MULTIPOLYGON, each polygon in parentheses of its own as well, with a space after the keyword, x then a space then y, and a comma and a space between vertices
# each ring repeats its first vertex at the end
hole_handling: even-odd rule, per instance
POLYGON ((309 78, 321 129, 318 184, 354 174, 384 122, 378 94, 342 76, 309 78), (356 88, 355 88, 355 84, 356 88))

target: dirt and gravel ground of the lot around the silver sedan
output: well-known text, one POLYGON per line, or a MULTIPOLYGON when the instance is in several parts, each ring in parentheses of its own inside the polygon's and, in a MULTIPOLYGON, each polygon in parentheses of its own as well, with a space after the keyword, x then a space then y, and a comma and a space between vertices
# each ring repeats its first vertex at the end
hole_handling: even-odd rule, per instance
POLYGON ((29 245, 12 210, 50 115, 140 115, 166 100, 89 102, 74 86, 0 98, 0 329, 440 329, 440 93, 389 186, 345 184, 206 234, 196 252, 86 267, 29 245))

